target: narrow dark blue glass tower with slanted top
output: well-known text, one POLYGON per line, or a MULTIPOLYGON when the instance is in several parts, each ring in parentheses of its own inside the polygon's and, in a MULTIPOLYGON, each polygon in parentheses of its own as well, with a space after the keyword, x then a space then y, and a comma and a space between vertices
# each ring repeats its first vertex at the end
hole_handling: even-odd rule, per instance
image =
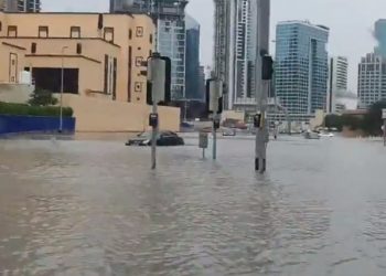
POLYGON ((200 91, 200 24, 186 15, 185 98, 202 99, 200 91))

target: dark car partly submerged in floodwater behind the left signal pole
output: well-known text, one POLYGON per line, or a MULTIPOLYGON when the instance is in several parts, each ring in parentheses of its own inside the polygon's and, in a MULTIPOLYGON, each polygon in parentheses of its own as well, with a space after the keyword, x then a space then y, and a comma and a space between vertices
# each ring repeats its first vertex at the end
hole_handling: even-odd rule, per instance
MULTIPOLYGON (((161 131, 157 136, 157 146, 183 146, 184 140, 173 131, 161 131)), ((151 132, 142 132, 129 139, 126 146, 151 146, 151 132)))

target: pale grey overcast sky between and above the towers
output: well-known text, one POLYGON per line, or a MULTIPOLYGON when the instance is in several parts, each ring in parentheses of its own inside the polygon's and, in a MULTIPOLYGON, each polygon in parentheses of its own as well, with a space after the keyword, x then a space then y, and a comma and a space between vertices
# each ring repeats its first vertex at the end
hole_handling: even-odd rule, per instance
MULTIPOLYGON (((42 0, 44 11, 107 11, 109 0, 42 0)), ((329 52, 350 59, 350 88, 356 93, 356 67, 372 52, 374 22, 386 18, 385 0, 271 0, 271 40, 275 25, 282 20, 309 20, 330 26, 329 52)), ((190 0, 187 13, 201 23, 201 60, 212 63, 212 0, 190 0)), ((272 45, 275 47, 275 45, 272 45)))

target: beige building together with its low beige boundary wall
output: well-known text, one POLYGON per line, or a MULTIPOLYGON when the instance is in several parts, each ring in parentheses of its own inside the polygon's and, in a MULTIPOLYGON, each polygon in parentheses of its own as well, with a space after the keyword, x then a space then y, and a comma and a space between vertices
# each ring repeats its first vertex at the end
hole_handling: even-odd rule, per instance
MULTIPOLYGON (((24 84, 58 96, 63 68, 63 105, 73 108, 77 131, 148 129, 151 108, 141 71, 154 46, 151 18, 0 12, 0 102, 20 103, 8 96, 24 84)), ((179 130, 179 108, 160 107, 159 115, 160 129, 179 130)))

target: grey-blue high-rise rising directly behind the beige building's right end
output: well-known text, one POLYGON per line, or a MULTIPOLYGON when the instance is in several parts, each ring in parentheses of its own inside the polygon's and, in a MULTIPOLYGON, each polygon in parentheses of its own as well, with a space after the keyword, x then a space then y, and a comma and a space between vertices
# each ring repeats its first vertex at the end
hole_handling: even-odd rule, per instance
POLYGON ((171 59, 172 98, 185 97, 186 0, 110 0, 115 13, 146 13, 156 22, 154 51, 171 59))

